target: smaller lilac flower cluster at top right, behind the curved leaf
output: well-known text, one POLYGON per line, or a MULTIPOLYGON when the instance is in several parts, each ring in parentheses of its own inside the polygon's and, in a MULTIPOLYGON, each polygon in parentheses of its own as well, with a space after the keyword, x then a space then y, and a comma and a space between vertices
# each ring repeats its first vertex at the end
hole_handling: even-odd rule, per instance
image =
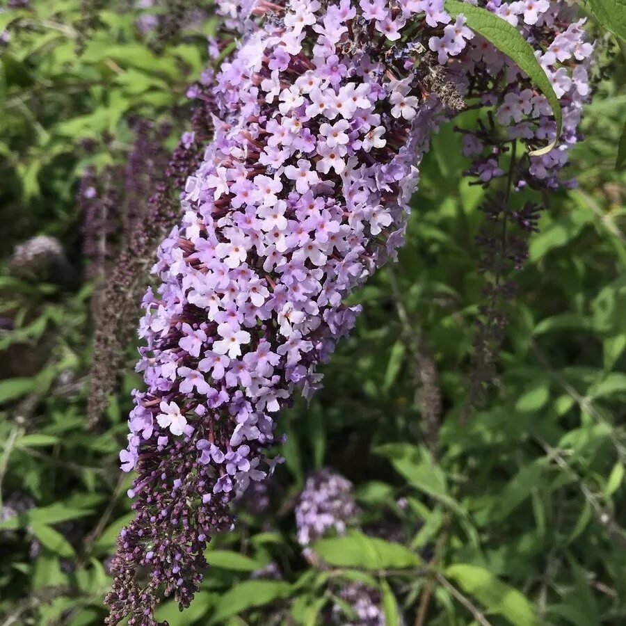
MULTIPOLYGON (((536 189, 555 189, 561 184, 575 186, 571 179, 561 182, 559 172, 567 165, 568 154, 578 141, 582 105, 590 93, 588 70, 593 45, 586 41, 582 29, 585 20, 575 21, 575 6, 548 0, 511 3, 491 0, 485 8, 517 26, 533 45, 563 111, 559 144, 547 154, 525 159, 524 167, 515 171, 515 191, 527 186, 536 189)), ((435 45, 431 40, 431 47, 441 45, 444 43, 435 45)), ((451 54, 449 47, 444 52, 451 54)), ((442 60, 441 49, 439 58, 442 60)), ((467 88, 467 97, 479 98, 490 119, 481 123, 478 131, 463 131, 463 154, 472 157, 469 173, 486 186, 506 176, 501 157, 508 152, 512 141, 521 141, 531 149, 550 143, 556 136, 556 122, 547 99, 485 40, 474 38, 458 61, 465 75, 475 79, 467 88), (506 77, 504 85, 490 81, 490 77, 500 72, 506 77)))

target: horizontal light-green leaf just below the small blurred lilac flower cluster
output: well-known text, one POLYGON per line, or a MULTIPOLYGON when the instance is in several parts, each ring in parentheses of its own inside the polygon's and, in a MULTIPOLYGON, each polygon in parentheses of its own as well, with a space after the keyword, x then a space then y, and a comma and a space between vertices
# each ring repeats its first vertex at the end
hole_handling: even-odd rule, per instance
POLYGON ((321 539, 312 546, 328 565, 385 570, 417 567, 419 557, 399 543, 350 531, 344 537, 321 539))

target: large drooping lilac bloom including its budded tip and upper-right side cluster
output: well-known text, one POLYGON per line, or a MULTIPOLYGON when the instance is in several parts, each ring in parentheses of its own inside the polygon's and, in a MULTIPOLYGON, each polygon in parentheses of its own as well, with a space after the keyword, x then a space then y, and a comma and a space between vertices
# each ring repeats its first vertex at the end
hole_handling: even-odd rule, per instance
MULTIPOLYGON (((161 286, 143 300, 147 389, 134 392, 120 454, 138 474, 136 519, 118 542, 109 624, 152 626, 163 597, 191 602, 207 543, 232 525, 230 501, 272 471, 278 412, 319 387, 318 365, 353 326, 360 307, 344 298, 403 243, 431 131, 465 101, 514 122, 499 133, 529 145, 554 134, 545 98, 442 0, 219 4, 240 44, 215 79, 214 141, 159 248, 161 286)), ((486 5, 519 26, 559 86, 563 141, 523 172, 554 186, 591 48, 565 4, 525 6, 486 5)), ((506 159, 489 141, 466 139, 483 182, 506 159)))

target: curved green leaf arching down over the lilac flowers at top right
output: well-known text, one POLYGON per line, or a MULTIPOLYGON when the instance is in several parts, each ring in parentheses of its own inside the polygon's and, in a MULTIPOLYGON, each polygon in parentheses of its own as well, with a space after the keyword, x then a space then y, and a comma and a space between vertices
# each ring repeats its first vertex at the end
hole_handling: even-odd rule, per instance
MULTIPOLYGON (((613 0, 616 1, 616 0, 613 0)), ((535 85, 540 88, 547 101, 552 106, 552 113, 556 121, 556 137, 554 141, 541 148, 530 152, 533 157, 540 157, 546 154, 556 145, 561 136, 561 127, 563 126, 563 113, 561 113, 561 103, 556 97, 552 83, 550 83, 543 67, 537 61, 535 53, 531 45, 524 40, 520 31, 515 26, 511 26, 506 19, 498 17, 490 11, 472 6, 458 0, 445 0, 444 6, 447 12, 456 17, 457 15, 465 15, 467 26, 482 35, 488 42, 497 47, 499 51, 506 54, 512 61, 515 61, 517 67, 522 70, 535 85)))

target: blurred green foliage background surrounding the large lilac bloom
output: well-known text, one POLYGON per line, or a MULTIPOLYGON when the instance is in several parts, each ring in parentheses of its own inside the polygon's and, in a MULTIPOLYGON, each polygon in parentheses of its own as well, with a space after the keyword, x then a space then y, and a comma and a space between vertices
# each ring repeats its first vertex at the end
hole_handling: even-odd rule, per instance
MULTIPOLYGON (((93 333, 104 279, 191 129, 214 29, 208 4, 182 0, 0 9, 1 625, 104 618, 139 382, 128 346, 88 424, 93 333)), ((161 609, 171 626, 626 623, 626 93, 612 47, 579 188, 548 199, 479 408, 466 411, 483 190, 442 127, 399 264, 355 296, 364 313, 325 387, 284 416, 284 463, 237 503, 191 608, 161 609)))

